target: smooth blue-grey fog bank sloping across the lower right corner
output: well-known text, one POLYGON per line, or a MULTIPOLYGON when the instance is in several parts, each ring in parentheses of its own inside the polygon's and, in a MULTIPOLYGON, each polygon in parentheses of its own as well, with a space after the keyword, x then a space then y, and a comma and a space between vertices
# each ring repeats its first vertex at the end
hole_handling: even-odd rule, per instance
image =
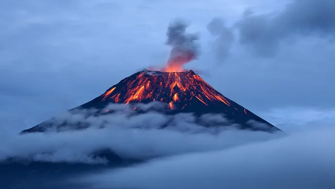
POLYGON ((71 179, 100 189, 333 189, 335 129, 155 159, 71 179))

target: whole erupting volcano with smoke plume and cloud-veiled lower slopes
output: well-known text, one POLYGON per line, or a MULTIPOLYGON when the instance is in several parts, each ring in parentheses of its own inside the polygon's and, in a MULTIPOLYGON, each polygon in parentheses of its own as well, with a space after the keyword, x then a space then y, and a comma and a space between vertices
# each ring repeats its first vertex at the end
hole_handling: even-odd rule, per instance
MULTIPOLYGON (((215 132, 219 132, 224 126, 267 132, 280 130, 220 94, 192 70, 184 70, 183 65, 197 59, 199 55, 199 36, 196 33, 187 33, 187 27, 188 24, 179 19, 169 24, 166 45, 172 48, 164 68, 159 71, 145 69, 137 72, 95 99, 68 110, 71 115, 51 118, 21 133, 44 132, 49 129, 82 129, 92 125, 99 128, 128 125, 136 128, 147 128, 147 125, 155 125, 155 128, 179 128, 176 120, 179 124, 185 121, 179 125, 183 129, 192 125, 215 132), (125 113, 119 108, 112 109, 111 104, 114 104, 114 108, 117 104, 123 104, 128 110, 125 113), (143 104, 152 106, 144 110, 143 104), (146 114, 148 111, 149 114, 146 114), (137 123, 136 120, 128 123, 131 117, 143 114, 148 117, 152 115, 152 111, 162 120, 152 117, 146 122, 137 123), (153 120, 156 121, 154 124, 153 120)), ((188 130, 197 130, 193 127, 188 130)))

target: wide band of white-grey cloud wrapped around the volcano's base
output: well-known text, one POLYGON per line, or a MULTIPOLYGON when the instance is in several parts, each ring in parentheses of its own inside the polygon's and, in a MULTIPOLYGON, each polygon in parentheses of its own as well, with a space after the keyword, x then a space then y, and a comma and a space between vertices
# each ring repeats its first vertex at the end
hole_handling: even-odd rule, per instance
MULTIPOLYGON (((0 161, 14 157, 47 162, 106 163, 106 159, 97 158, 94 153, 104 149, 121 158, 148 159, 231 148, 285 136, 283 132, 240 130, 229 125, 221 115, 204 115, 198 124, 192 114, 131 115, 134 111, 124 105, 109 108, 115 113, 87 116, 96 110, 83 110, 61 114, 52 120, 56 126, 44 133, 1 133, 0 161), (76 130, 78 122, 82 123, 81 130, 76 130)), ((150 109, 148 105, 137 108, 150 109)))

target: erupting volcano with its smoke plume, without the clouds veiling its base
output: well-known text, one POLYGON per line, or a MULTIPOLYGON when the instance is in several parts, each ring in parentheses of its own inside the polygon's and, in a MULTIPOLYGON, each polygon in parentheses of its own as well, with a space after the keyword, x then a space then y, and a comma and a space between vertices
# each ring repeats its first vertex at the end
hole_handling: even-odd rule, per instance
MULTIPOLYGON (((100 111, 95 112, 94 116, 108 115, 115 113, 108 109, 109 104, 124 104, 131 107, 135 113, 141 114, 145 112, 138 108, 139 103, 161 102, 165 104, 165 107, 159 111, 167 115, 192 113, 199 118, 206 114, 218 114, 229 120, 230 124, 239 125, 241 129, 267 132, 280 130, 220 94, 192 70, 184 70, 183 65, 196 58, 198 49, 195 44, 198 39, 197 35, 186 34, 185 28, 186 25, 178 21, 168 27, 167 44, 172 46, 172 50, 164 68, 159 71, 145 69, 137 72, 121 80, 104 94, 69 111, 95 109, 100 111)), ((168 124, 164 123, 164 127, 168 124)), ((64 125, 68 123, 62 122, 61 126, 64 125)), ((201 123, 200 125, 210 124, 201 123)), ((24 130, 22 133, 43 132, 50 126, 52 123, 47 121, 24 130)), ((216 126, 222 125, 218 123, 216 126)))

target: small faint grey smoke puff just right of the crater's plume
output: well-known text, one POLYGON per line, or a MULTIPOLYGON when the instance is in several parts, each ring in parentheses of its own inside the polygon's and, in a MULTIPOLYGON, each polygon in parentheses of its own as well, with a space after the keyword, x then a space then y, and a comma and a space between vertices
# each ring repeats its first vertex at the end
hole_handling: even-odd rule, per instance
POLYGON ((230 53, 234 43, 233 30, 225 26, 225 21, 221 18, 213 18, 207 25, 207 30, 215 37, 213 51, 219 62, 224 61, 230 53))

